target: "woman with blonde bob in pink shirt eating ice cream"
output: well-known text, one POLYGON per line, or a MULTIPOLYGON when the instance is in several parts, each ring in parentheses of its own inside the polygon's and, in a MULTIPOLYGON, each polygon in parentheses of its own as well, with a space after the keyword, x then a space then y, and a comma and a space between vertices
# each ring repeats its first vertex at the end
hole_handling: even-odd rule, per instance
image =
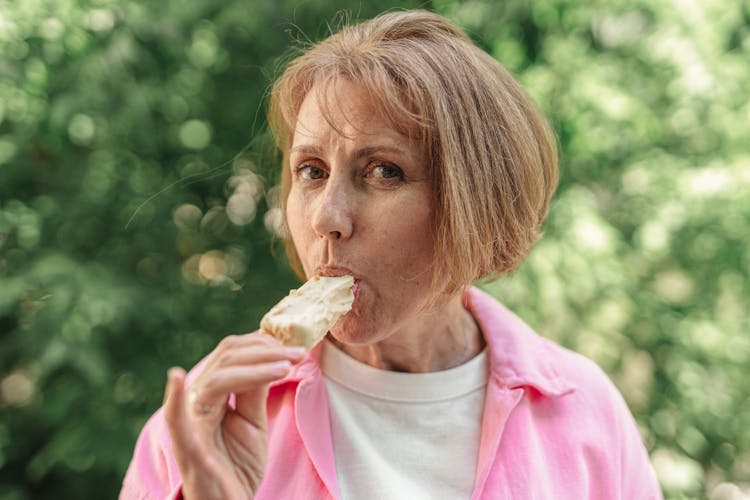
POLYGON ((557 183, 524 91, 423 11, 349 26, 273 87, 287 252, 352 275, 310 352, 228 337, 169 371, 122 498, 659 498, 588 360, 470 288, 515 269, 557 183))

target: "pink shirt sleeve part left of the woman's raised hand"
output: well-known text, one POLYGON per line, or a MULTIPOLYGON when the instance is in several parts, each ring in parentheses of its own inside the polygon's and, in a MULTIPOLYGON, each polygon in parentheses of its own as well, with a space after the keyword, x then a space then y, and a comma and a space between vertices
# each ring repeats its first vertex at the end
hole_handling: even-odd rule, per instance
POLYGON ((120 500, 182 498, 182 478, 172 457, 172 443, 162 410, 146 423, 120 491, 120 500))

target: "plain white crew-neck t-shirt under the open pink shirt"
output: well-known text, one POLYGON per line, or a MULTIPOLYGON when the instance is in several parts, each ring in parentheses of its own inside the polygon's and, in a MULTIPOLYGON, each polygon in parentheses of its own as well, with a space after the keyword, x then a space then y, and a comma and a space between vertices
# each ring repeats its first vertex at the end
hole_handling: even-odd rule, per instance
POLYGON ((326 340, 321 367, 342 499, 471 496, 486 349, 449 370, 402 373, 360 363, 326 340))

